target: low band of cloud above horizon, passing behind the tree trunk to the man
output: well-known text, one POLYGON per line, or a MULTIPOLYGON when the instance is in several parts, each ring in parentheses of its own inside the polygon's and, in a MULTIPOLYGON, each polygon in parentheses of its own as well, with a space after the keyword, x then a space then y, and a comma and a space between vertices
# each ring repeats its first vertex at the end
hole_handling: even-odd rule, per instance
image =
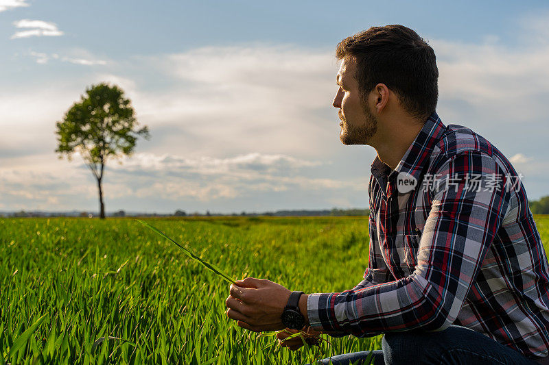
MULTIPOLYGON (((80 157, 67 162, 40 158, 33 166, 0 168, 3 202, 10 209, 52 210, 77 208, 75 201, 95 201, 97 188, 91 173, 80 157), (51 206, 52 199, 58 205, 51 206)), ((143 201, 146 199, 215 202, 220 199, 250 199, 256 194, 301 191, 336 192, 366 189, 366 179, 340 180, 307 177, 307 170, 322 163, 289 155, 249 153, 229 158, 183 158, 177 155, 137 153, 123 158, 122 164, 109 161, 104 191, 111 200, 143 201)), ((145 208, 141 208, 145 209, 145 208)))

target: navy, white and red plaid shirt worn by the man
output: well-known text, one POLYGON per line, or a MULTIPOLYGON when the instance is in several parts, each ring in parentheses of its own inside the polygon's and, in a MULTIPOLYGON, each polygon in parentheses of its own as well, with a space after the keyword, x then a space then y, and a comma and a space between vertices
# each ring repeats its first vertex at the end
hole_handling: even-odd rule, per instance
POLYGON ((364 280, 310 294, 311 326, 364 337, 454 324, 548 356, 548 261, 509 160, 432 114, 395 171, 377 157, 371 171, 364 280))

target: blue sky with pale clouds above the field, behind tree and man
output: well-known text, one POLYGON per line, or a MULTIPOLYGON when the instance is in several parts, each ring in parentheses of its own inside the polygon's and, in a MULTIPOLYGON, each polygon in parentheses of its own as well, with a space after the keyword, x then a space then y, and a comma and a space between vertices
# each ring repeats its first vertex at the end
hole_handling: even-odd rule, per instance
POLYGON ((0 211, 97 212, 56 122, 106 81, 150 140, 106 165, 107 212, 368 207, 375 149, 344 146, 343 38, 402 24, 434 49, 437 112, 491 141, 549 194, 547 1, 0 0, 0 211))

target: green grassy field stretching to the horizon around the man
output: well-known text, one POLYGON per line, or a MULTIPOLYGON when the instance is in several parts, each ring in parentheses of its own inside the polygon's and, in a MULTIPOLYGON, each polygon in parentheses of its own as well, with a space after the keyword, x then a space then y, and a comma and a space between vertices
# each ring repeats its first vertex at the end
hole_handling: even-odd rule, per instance
MULTIPOLYGON (((549 217, 536 216, 549 249, 549 217)), ((337 292, 362 279, 364 217, 150 219, 236 279, 337 292)), ((130 218, 0 219, 0 362, 305 364, 224 314, 225 281, 130 218), (32 325, 41 318, 38 327, 32 325), (27 330, 29 329, 29 330, 27 330), (29 335, 30 336, 25 336, 29 335)), ((323 356, 380 347, 334 338, 323 356)))

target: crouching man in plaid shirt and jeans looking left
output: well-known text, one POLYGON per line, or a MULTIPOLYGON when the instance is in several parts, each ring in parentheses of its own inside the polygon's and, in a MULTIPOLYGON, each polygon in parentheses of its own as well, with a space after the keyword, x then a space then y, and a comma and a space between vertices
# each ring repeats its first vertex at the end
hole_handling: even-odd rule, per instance
POLYGON ((546 363, 548 262, 509 160, 471 129, 442 123, 434 51, 412 29, 372 27, 336 55, 340 140, 377 151, 364 280, 307 295, 246 278, 231 286, 227 316, 251 331, 384 333, 376 364, 546 363))

